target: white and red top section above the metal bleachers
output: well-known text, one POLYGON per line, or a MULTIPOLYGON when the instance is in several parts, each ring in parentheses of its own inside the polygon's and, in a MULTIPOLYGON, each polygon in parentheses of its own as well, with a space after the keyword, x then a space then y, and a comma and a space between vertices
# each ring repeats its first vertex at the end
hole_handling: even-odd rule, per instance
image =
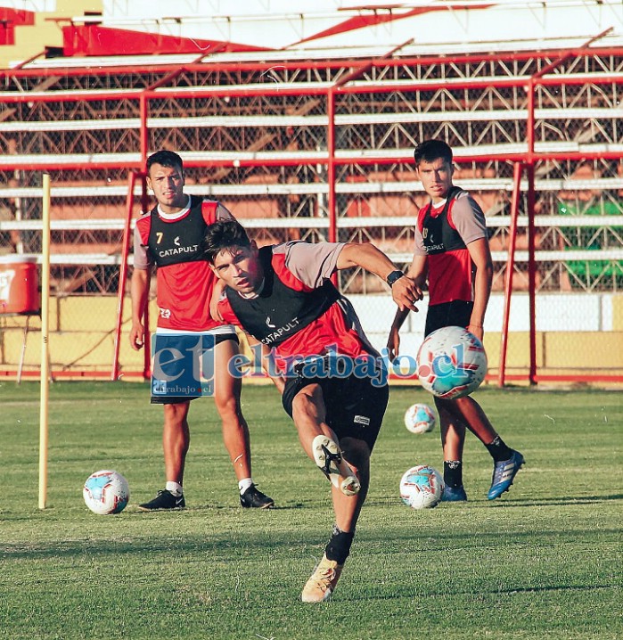
POLYGON ((620 0, 135 0, 56 19, 40 67, 280 62, 623 47, 620 0))

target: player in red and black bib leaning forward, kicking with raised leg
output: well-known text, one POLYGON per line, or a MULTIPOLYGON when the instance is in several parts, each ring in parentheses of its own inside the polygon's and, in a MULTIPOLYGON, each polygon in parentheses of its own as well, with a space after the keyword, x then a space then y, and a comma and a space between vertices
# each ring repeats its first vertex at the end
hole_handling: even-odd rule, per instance
POLYGON ((363 267, 392 283, 399 308, 416 310, 422 291, 371 244, 285 242, 258 249, 240 224, 223 220, 206 229, 203 246, 226 285, 221 316, 261 342, 283 373, 271 373, 283 407, 305 453, 332 482, 332 537, 301 595, 303 602, 322 602, 350 552, 389 397, 381 357, 330 277, 363 267))

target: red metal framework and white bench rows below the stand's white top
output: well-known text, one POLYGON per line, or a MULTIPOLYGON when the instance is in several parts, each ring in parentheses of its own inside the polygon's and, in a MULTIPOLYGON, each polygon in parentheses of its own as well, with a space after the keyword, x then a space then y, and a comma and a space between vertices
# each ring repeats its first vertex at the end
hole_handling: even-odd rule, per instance
MULTIPOLYGON (((140 175, 150 152, 168 148, 184 158, 187 191, 223 201, 259 242, 369 241, 404 266, 424 201, 413 149, 439 137, 455 150, 455 183, 488 217, 494 288, 533 297, 620 291, 620 49, 399 50, 5 70, 0 249, 40 250, 41 172, 49 172, 55 290, 117 294, 127 210, 146 201, 128 172, 140 175)), ((381 291, 357 271, 340 276, 348 293, 381 291)))

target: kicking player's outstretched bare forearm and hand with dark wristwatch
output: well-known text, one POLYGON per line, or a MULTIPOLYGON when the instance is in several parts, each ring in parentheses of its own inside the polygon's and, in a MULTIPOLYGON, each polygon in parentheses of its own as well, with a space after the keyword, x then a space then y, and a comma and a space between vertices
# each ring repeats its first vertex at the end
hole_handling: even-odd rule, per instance
MULTIPOLYGON (((373 244, 348 243, 340 252, 336 267, 363 267, 366 271, 378 275, 387 282, 389 274, 398 271, 394 263, 373 244)), ((422 299, 422 290, 414 281, 404 275, 391 284, 391 297, 398 308, 417 311, 415 302, 422 299)))

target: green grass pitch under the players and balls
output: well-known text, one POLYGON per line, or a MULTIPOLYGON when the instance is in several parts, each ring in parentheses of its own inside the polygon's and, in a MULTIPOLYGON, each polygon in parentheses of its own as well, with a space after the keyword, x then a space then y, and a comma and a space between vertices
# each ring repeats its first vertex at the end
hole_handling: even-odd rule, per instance
POLYGON ((0 638, 619 638, 620 392, 481 390, 526 457, 488 502, 491 462, 465 447, 466 504, 414 511, 398 481, 442 467, 439 429, 406 431, 393 388, 373 480, 332 601, 299 602, 332 525, 328 482, 299 447, 276 391, 246 385, 254 477, 278 508, 249 512, 213 403, 191 409, 189 508, 143 513, 163 487, 161 408, 146 385, 54 383, 47 508, 37 508, 39 390, 0 383, 0 638), (117 516, 87 511, 82 484, 114 468, 131 488, 117 516))

